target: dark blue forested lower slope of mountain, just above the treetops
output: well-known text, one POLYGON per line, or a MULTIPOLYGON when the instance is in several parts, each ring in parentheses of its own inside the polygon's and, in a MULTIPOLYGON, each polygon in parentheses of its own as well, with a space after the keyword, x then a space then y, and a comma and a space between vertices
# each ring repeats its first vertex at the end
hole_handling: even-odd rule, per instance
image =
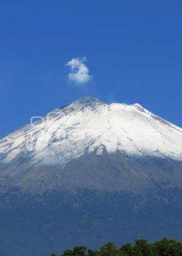
POLYGON ((135 238, 180 240, 181 196, 178 189, 159 189, 147 198, 87 189, 32 196, 14 188, 0 196, 0 252, 45 256, 78 244, 98 249, 110 240, 118 246, 135 238))

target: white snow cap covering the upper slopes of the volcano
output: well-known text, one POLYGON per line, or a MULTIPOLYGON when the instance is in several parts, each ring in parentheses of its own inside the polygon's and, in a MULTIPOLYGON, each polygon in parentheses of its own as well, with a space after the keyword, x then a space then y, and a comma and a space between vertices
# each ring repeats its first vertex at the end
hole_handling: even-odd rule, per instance
MULTIPOLYGON (((181 162, 182 129, 138 104, 107 105, 83 97, 0 140, 0 182, 15 182, 18 176, 16 185, 24 181, 27 186, 32 176, 35 179, 40 173, 43 182, 47 172, 56 176, 58 167, 66 170, 70 162, 86 154, 99 157, 117 152, 136 159, 156 157, 181 162), (50 165, 57 167, 46 171, 45 166, 50 165), (42 167, 44 171, 39 173, 42 167)), ((52 180, 51 175, 47 183, 52 180)))

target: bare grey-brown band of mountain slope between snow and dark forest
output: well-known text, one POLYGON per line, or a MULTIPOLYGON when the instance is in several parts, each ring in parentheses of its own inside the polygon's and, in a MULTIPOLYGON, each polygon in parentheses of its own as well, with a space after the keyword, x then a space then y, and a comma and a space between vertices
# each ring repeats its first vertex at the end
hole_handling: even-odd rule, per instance
POLYGON ((160 188, 181 188, 182 163, 165 157, 127 156, 121 151, 93 153, 72 159, 66 165, 22 165, 1 168, 1 192, 16 186, 24 193, 77 189, 103 192, 148 193, 160 188))

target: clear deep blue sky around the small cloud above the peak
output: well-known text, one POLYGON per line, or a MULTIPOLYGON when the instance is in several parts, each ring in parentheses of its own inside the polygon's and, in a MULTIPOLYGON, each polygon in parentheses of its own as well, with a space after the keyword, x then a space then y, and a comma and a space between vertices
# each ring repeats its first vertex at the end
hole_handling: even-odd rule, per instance
POLYGON ((84 95, 182 126, 181 13, 181 0, 1 0, 0 137, 84 95), (83 85, 67 79, 76 57, 83 85))

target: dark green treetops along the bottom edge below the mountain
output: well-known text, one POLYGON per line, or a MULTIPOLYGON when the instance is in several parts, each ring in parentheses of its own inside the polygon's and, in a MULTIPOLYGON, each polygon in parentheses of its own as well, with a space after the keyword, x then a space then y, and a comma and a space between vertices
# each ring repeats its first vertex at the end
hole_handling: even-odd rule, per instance
MULTIPOLYGON (((182 242, 163 238, 155 243, 147 240, 135 240, 135 244, 123 244, 117 248, 114 243, 104 244, 98 251, 85 246, 76 246, 65 251, 61 256, 182 256, 182 242)), ((58 256, 51 254, 50 256, 58 256)))

